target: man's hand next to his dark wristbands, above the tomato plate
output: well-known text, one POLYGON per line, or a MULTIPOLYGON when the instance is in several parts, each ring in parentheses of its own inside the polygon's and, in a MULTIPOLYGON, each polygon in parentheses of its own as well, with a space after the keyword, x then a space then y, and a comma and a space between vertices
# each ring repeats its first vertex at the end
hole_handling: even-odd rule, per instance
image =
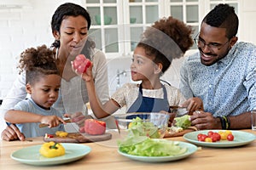
POLYGON ((198 130, 202 129, 221 129, 218 118, 212 116, 212 113, 204 111, 195 111, 190 116, 191 125, 195 126, 198 130))

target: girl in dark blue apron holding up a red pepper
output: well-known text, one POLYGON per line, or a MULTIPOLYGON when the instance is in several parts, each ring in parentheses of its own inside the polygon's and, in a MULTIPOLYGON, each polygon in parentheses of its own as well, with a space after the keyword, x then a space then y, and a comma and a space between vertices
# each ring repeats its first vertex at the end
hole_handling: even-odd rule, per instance
POLYGON ((141 83, 126 83, 110 100, 100 105, 91 74, 92 66, 82 75, 88 89, 90 106, 97 118, 113 114, 126 105, 130 112, 169 111, 170 105, 181 105, 183 95, 177 88, 164 85, 160 76, 192 46, 192 29, 172 17, 156 21, 148 27, 134 50, 131 79, 141 83))

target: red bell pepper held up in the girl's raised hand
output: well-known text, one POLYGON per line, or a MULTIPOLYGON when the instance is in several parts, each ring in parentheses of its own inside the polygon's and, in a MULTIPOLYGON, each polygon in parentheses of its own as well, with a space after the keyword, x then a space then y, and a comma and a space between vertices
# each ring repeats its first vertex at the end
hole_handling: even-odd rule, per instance
POLYGON ((90 67, 90 59, 86 59, 84 54, 79 54, 73 60, 73 69, 78 71, 80 74, 86 72, 87 68, 90 67))

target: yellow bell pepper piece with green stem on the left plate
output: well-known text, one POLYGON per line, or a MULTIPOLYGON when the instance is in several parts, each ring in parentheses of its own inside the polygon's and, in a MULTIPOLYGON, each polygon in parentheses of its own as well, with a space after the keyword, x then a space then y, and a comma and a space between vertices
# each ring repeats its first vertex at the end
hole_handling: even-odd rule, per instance
POLYGON ((61 144, 51 141, 44 143, 39 153, 45 157, 63 156, 65 155, 65 148, 61 144))

